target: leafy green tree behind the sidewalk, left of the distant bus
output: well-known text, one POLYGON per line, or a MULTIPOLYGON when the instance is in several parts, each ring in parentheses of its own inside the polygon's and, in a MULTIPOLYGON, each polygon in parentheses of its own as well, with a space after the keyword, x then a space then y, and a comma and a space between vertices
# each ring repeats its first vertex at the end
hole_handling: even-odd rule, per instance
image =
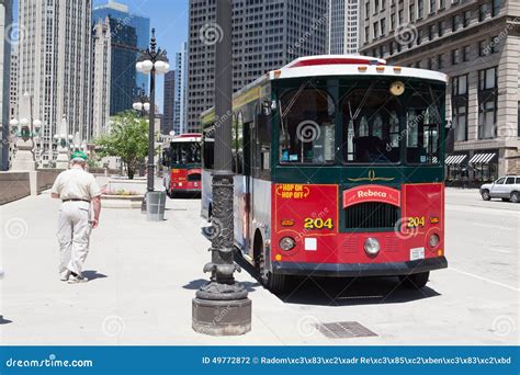
POLYGON ((148 123, 134 111, 120 113, 112 122, 110 133, 94 141, 98 154, 121 158, 133 180, 140 160, 148 155, 148 123))

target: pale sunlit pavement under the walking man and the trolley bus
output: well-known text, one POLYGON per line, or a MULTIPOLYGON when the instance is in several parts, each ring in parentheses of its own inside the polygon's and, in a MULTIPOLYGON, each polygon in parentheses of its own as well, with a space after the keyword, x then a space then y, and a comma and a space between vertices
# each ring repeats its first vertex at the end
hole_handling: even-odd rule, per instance
POLYGON ((0 343, 4 345, 453 345, 518 344, 520 204, 448 190, 448 270, 409 291, 396 279, 298 280, 275 296, 246 268, 252 331, 213 338, 191 329, 207 280, 210 242, 199 200, 171 200, 163 223, 104 209, 87 276, 58 281, 59 202, 48 192, 0 207, 0 343), (327 338, 317 323, 359 322, 376 336, 327 338))

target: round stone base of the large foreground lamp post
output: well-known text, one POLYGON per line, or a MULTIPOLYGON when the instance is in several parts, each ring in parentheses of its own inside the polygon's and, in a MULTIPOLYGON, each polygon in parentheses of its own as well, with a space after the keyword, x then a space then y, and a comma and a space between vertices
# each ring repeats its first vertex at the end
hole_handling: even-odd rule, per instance
POLYGON ((240 336, 251 330, 251 300, 193 298, 192 327, 208 336, 240 336))

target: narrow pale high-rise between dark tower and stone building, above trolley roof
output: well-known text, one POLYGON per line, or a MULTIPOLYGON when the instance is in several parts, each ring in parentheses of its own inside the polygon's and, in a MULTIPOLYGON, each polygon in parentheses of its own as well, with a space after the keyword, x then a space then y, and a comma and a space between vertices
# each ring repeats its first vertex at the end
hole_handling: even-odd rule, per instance
POLYGON ((355 54, 359 49, 359 0, 329 0, 328 53, 355 54))

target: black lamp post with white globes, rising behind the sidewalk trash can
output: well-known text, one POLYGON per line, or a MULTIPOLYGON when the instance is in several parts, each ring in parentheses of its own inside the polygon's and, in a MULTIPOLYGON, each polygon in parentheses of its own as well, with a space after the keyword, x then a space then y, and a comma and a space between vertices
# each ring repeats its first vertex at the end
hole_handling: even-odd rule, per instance
MULTIPOLYGON (((155 171, 155 116, 156 116, 156 75, 165 75, 170 70, 166 50, 157 48, 156 30, 151 30, 150 46, 144 50, 136 64, 137 71, 150 75, 150 101, 148 103, 149 130, 148 130, 148 192, 154 192, 155 171)), ((136 103, 137 104, 137 103, 136 103)), ((145 103, 143 110, 146 111, 145 103)), ((137 105, 136 105, 137 106, 137 105)), ((139 106, 140 109, 140 106, 139 106)))

